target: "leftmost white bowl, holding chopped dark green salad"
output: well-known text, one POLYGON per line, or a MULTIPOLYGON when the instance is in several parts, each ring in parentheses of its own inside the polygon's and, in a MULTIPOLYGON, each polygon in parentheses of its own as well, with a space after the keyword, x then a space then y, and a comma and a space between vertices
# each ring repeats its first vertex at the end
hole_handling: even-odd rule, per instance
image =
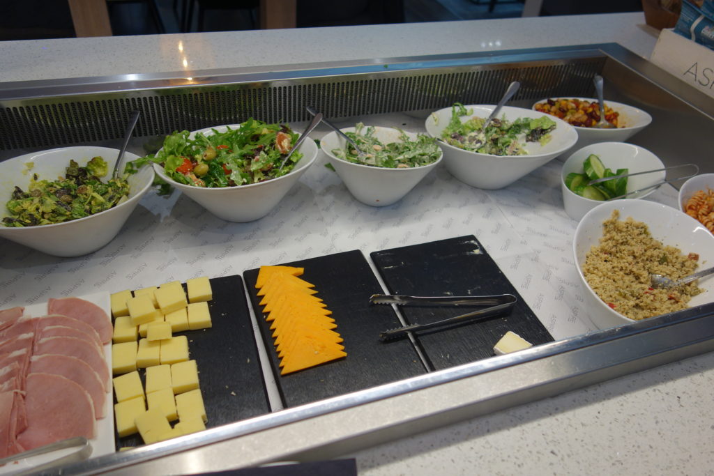
MULTIPOLYGON (((80 166, 84 166, 96 156, 104 158, 109 166, 109 173, 111 173, 118 155, 119 151, 114 148, 76 146, 27 153, 24 156, 0 162, 2 208, 0 218, 8 216, 5 203, 9 200, 14 186, 19 186, 23 190, 27 189, 30 173, 36 173, 40 179, 51 180, 58 176, 64 176, 70 159, 74 159, 80 166), (31 172, 28 172, 24 165, 29 162, 34 163, 31 172)), ((137 158, 139 156, 133 153, 124 153, 125 163, 137 158)), ((107 177, 102 178, 103 181, 106 179, 107 177)), ((151 170, 151 167, 143 167, 138 173, 129 176, 128 181, 129 199, 114 208, 85 218, 53 225, 11 228, 0 224, 0 236, 54 256, 80 256, 96 251, 119 233, 141 197, 151 187, 151 182, 154 181, 154 171, 151 170)))

